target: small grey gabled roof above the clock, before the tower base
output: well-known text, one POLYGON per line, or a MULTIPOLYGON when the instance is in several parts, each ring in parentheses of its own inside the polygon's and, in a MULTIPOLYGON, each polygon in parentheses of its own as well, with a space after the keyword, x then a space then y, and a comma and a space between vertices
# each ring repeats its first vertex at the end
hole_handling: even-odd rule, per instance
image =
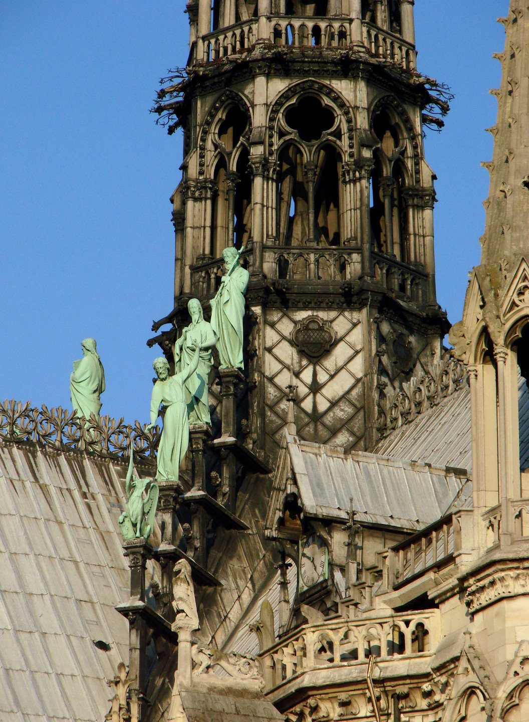
POLYGON ((307 443, 286 434, 305 514, 420 529, 437 521, 458 495, 465 476, 429 464, 307 443))

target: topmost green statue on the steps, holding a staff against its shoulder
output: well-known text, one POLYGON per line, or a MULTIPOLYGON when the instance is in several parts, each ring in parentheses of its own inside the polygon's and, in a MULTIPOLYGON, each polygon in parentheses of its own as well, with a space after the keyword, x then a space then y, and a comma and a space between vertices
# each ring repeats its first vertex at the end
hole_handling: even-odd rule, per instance
MULTIPOLYGON (((244 247, 243 247, 244 248, 244 247)), ((217 350, 221 368, 243 368, 242 319, 245 313, 245 291, 250 274, 239 265, 243 251, 224 248, 226 273, 217 295, 211 300, 211 326, 217 334, 217 350)))

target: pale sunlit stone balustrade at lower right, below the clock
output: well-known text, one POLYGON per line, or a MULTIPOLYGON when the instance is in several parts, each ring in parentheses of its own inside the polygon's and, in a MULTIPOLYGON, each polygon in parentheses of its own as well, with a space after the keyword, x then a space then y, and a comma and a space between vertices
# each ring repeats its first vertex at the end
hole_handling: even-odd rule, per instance
POLYGON ((259 657, 271 690, 306 671, 366 664, 370 656, 382 664, 395 656, 427 655, 439 642, 438 609, 385 616, 371 612, 359 619, 338 617, 298 627, 259 657))

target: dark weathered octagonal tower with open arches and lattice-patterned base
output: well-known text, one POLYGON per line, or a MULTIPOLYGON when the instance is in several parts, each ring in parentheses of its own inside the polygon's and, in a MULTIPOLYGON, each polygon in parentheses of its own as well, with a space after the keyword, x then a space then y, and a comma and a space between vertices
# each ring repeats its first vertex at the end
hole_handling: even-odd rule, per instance
MULTIPOLYGON (((163 321, 180 326, 193 296, 207 316, 222 250, 244 246, 239 416, 271 461, 289 397, 300 438, 370 449, 402 383, 440 362, 413 5, 190 0, 188 65, 159 93, 184 135, 163 321)), ((171 333, 155 339, 169 356, 171 333)))

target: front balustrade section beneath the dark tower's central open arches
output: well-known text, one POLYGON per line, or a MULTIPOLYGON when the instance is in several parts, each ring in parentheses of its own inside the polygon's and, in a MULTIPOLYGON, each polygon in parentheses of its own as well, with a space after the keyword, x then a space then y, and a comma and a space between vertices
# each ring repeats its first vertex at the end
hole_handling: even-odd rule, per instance
POLYGON ((287 281, 354 281, 362 272, 361 252, 346 247, 277 246, 263 249, 268 278, 287 281))

